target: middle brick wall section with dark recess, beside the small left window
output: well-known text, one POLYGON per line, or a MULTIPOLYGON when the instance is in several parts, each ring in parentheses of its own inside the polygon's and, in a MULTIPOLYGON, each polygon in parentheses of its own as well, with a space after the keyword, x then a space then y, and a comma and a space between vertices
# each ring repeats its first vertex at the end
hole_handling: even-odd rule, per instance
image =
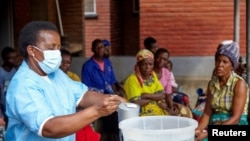
POLYGON ((97 18, 85 19, 85 57, 92 55, 94 39, 111 41, 113 55, 134 55, 139 50, 139 14, 133 0, 96 0, 97 18))

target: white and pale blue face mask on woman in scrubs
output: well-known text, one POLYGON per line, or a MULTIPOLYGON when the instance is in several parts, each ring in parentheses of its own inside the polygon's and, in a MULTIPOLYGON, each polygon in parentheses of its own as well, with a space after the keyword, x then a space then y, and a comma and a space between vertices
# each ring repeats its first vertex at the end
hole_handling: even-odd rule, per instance
POLYGON ((40 68, 45 72, 46 74, 50 74, 57 69, 59 69, 59 66, 62 62, 62 56, 60 50, 44 50, 42 51, 36 46, 33 46, 34 48, 38 49, 39 51, 43 52, 44 60, 38 61, 35 56, 33 58, 38 62, 38 65, 40 68))

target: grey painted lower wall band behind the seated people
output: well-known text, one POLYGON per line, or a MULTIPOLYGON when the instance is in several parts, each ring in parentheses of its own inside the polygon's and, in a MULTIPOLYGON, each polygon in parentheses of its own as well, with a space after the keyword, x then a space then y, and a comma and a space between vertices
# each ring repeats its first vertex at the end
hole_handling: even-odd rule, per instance
MULTIPOLYGON (((81 74, 82 64, 88 58, 74 57, 71 70, 81 74)), ((133 72, 136 63, 132 56, 112 56, 114 71, 118 81, 123 81, 133 72)), ((214 67, 214 57, 171 57, 173 72, 177 79, 208 79, 214 67)))

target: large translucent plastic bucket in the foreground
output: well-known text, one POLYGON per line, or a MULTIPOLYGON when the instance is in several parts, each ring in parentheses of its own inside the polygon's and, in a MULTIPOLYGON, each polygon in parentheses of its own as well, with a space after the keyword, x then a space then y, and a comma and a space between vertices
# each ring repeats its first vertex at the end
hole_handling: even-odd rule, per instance
POLYGON ((143 116, 123 120, 123 141, 194 141, 198 122, 179 116, 143 116))

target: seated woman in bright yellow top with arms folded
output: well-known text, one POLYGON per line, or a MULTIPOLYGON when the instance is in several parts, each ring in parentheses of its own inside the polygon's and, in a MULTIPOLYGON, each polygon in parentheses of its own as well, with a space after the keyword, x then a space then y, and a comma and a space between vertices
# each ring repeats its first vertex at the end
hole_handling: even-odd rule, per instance
POLYGON ((147 49, 136 55, 135 72, 130 74, 124 83, 126 98, 140 105, 140 116, 166 115, 158 105, 165 99, 165 91, 158 80, 154 68, 154 55, 147 49))

